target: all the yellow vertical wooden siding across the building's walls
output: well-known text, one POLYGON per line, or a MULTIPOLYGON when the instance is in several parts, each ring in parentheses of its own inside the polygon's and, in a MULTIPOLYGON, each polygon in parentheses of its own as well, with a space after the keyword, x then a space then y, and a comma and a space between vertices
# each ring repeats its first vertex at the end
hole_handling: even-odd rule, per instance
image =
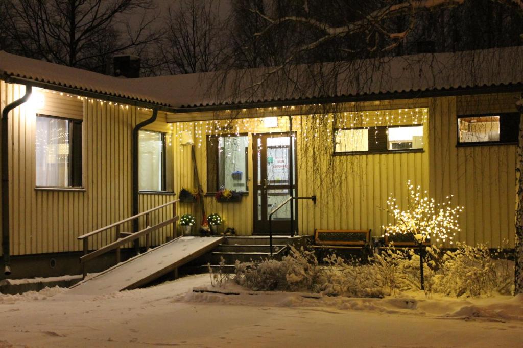
MULTIPOLYGON (((24 87, 0 82, 2 107, 21 97, 24 87)), ((47 95, 47 94, 46 94, 47 95)), ((459 241, 486 243, 496 247, 502 239, 514 246, 514 185, 516 146, 456 147, 457 114, 515 111, 514 95, 474 95, 426 100, 369 103, 358 110, 383 110, 394 107, 428 107, 424 124, 424 152, 340 155, 334 158, 332 175, 336 181, 321 181, 314 162, 327 163, 330 154, 320 156, 307 151, 303 125, 307 116, 294 116, 298 147, 298 194, 318 198, 298 202, 300 234, 312 235, 314 229, 372 229, 381 235, 381 226, 390 217, 381 208, 392 194, 405 203, 406 182, 428 188, 441 200, 456 196, 454 202, 465 207, 460 222, 459 241), (328 156, 328 157, 327 157, 328 156)), ((350 112, 351 105, 345 110, 350 112)), ((295 111, 297 112, 297 111, 295 111)), ((279 113, 281 116, 283 111, 279 113)), ((26 103, 9 114, 10 231, 13 255, 76 251, 81 249, 76 237, 131 214, 131 131, 138 122, 149 118, 150 110, 115 105, 97 100, 78 99, 53 93, 46 104, 35 110, 26 103), (63 105, 63 107, 61 106, 63 105), (79 113, 79 110, 82 110, 79 113), (83 170, 85 191, 35 190, 35 113, 83 118, 83 170)), ((248 111, 243 112, 248 117, 248 111)), ((269 112, 267 115, 276 115, 269 112)), ((198 119, 196 115, 196 119, 198 119)), ((225 117, 225 116, 224 116, 225 117)), ((178 134, 188 131, 195 139, 195 152, 201 185, 207 187, 204 121, 166 123, 175 115, 159 113, 155 123, 145 127, 173 135, 175 193, 182 187, 195 187, 190 146, 181 145, 178 134), (202 131, 203 129, 203 131, 202 131), (202 133, 200 133, 202 132, 202 133)), ((252 178, 252 133, 268 132, 256 119, 243 120, 249 133, 248 171, 252 178)), ((287 130, 287 118, 279 129, 287 130)), ((242 203, 217 203, 204 197, 207 214, 223 218, 220 231, 234 227, 240 235, 253 230, 253 183, 242 203)), ((174 199, 168 194, 140 194, 140 210, 174 199)), ((198 204, 180 203, 178 213, 192 213, 201 221, 198 204)), ((153 217, 164 219, 170 211, 153 217)), ((142 221, 143 224, 143 221, 142 221)), ((197 229, 198 226, 195 226, 197 229)), ((130 226, 128 226, 130 229, 130 226)), ((179 233, 179 231, 178 231, 179 233)), ((95 239, 92 247, 108 243, 113 232, 95 239)), ((171 226, 153 236, 153 244, 163 243, 172 235, 171 226)))

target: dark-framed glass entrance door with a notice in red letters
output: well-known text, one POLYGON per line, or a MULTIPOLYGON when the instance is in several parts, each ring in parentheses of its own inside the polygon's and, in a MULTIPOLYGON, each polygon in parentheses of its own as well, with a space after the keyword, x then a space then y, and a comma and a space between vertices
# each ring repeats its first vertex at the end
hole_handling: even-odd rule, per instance
MULTIPOLYGON (((269 213, 290 196, 289 171, 296 195, 295 137, 292 165, 289 165, 289 133, 259 134, 253 137, 254 153, 254 233, 269 233, 269 213)), ((290 233, 290 203, 272 215, 273 233, 290 233)), ((296 213, 294 210, 294 221, 296 213)))

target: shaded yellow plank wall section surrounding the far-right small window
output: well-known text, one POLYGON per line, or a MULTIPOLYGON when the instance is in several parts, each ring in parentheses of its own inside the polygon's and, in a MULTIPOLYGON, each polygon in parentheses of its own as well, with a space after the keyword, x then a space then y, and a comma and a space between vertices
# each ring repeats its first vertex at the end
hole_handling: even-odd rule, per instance
POLYGON ((515 95, 491 94, 431 100, 430 191, 454 195, 465 209, 455 240, 514 247, 516 145, 456 147, 457 115, 516 112, 515 95))

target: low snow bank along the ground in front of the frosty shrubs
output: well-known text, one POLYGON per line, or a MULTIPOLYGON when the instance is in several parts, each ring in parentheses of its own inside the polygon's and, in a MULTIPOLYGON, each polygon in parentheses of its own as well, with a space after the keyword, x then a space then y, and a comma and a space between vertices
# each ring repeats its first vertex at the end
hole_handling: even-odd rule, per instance
POLYGON ((523 295, 476 298, 434 297, 427 299, 422 291, 401 293, 397 297, 385 296, 384 298, 325 296, 284 291, 248 291, 231 282, 221 288, 195 287, 191 292, 175 298, 174 302, 253 307, 303 307, 322 311, 358 310, 380 314, 408 314, 467 320, 523 321, 523 295))

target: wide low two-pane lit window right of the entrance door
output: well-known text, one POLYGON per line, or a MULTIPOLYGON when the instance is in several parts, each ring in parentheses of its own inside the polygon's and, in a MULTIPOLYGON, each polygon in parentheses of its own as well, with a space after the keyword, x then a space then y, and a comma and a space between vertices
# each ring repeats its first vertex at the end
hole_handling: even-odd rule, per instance
POLYGON ((338 129, 335 154, 423 151, 423 125, 338 129))

